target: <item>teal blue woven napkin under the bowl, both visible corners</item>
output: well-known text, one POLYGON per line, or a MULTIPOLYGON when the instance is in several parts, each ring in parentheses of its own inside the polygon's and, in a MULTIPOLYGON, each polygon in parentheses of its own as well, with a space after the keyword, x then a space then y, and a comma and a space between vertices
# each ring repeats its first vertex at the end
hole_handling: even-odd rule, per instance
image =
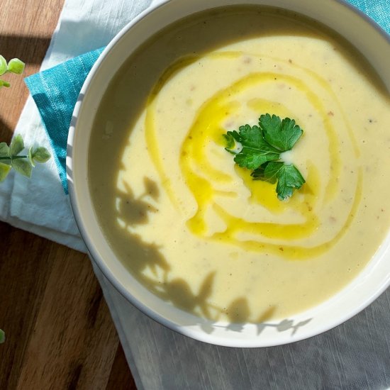
MULTIPOLYGON (((347 0, 390 33, 390 0, 347 0)), ((55 152, 55 162, 67 194, 65 160, 67 134, 79 91, 104 48, 87 52, 25 79, 38 106, 43 126, 55 152)))

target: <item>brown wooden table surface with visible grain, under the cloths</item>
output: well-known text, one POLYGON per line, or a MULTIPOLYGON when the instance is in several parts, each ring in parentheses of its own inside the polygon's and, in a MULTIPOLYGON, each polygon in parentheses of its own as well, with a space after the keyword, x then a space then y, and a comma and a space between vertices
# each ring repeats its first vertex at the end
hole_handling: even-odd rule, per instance
MULTIPOLYGON (((38 72, 64 0, 1 0, 0 54, 38 72)), ((0 142, 28 96, 21 77, 0 90, 0 142)), ((0 184, 1 186, 1 184, 0 184)), ((1 390, 135 389, 86 255, 0 223, 1 390)))

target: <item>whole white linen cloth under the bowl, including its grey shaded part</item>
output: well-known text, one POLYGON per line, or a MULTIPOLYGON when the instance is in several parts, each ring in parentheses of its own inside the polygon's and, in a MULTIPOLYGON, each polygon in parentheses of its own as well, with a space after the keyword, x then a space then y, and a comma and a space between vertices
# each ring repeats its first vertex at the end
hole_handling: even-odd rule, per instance
MULTIPOLYGON (((66 0, 42 69, 106 45, 151 2, 66 0)), ((50 149, 32 99, 16 132, 26 144, 36 140, 50 149)), ((0 185, 0 219, 86 251, 54 161, 38 165, 32 180, 12 174, 0 185)), ((94 268, 138 389, 390 388, 389 290, 323 335, 283 347, 234 349, 196 342, 155 323, 94 268)))

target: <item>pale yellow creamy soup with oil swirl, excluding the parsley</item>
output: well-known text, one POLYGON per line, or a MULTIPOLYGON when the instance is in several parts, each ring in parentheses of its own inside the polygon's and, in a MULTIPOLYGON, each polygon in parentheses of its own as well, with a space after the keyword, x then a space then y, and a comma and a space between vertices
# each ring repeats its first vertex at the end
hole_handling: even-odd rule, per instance
POLYGON ((119 259, 213 320, 281 319, 362 270, 389 227, 389 96, 335 33, 276 9, 199 13, 126 62, 96 115, 89 186, 119 259), (260 115, 294 118, 306 179, 279 201, 225 151, 260 115))

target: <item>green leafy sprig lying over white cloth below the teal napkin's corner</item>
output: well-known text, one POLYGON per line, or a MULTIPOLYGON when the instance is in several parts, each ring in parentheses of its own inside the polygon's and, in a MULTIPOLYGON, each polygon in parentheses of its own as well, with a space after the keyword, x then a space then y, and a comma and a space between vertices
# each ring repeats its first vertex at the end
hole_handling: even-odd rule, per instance
POLYGON ((20 134, 13 137, 11 145, 0 143, 0 182, 6 179, 11 168, 26 177, 31 177, 35 163, 47 162, 51 155, 43 146, 30 147, 26 155, 20 155, 24 150, 23 138, 20 134))

